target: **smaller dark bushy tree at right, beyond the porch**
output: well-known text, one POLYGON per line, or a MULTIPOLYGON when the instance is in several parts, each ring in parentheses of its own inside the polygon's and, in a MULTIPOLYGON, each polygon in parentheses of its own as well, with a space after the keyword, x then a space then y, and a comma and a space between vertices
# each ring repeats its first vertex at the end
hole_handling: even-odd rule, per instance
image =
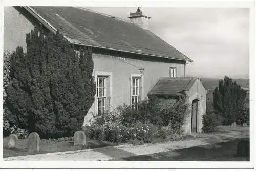
POLYGON ((222 114, 224 125, 234 121, 241 124, 244 121, 242 114, 245 114, 245 97, 246 91, 228 76, 219 81, 219 86, 214 90, 214 109, 222 114))

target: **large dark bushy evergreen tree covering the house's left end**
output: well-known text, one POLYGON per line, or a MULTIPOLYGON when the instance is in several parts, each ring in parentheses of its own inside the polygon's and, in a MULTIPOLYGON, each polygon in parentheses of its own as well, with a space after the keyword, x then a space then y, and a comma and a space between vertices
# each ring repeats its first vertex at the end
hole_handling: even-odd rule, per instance
POLYGON ((72 136, 94 102, 92 50, 77 54, 59 31, 38 28, 26 43, 27 54, 18 46, 11 55, 8 120, 42 138, 72 136))

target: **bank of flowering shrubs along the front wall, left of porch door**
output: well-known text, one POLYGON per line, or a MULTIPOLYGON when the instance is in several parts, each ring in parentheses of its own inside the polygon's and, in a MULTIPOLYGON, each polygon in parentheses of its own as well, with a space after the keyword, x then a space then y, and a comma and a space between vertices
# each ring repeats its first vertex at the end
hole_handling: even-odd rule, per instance
POLYGON ((174 101, 162 111, 159 101, 151 98, 138 104, 134 109, 130 105, 118 106, 107 110, 91 126, 83 131, 90 139, 110 142, 153 142, 154 138, 166 139, 168 135, 180 134, 180 127, 186 118, 188 105, 183 99, 174 101))

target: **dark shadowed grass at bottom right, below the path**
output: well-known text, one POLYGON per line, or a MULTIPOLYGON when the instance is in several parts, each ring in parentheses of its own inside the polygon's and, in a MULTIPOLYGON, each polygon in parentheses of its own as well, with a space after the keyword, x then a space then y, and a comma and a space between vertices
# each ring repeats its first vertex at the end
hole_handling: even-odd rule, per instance
POLYGON ((122 158, 118 161, 249 161, 249 157, 236 156, 239 140, 122 158))

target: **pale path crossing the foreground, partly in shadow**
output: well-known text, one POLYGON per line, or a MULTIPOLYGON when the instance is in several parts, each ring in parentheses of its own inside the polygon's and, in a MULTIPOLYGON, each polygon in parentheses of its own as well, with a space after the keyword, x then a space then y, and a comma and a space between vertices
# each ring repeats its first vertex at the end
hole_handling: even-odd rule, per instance
POLYGON ((194 139, 156 143, 143 145, 121 145, 108 146, 97 149, 86 149, 70 152, 48 153, 29 156, 9 157, 4 158, 4 161, 11 160, 36 160, 36 161, 107 161, 124 157, 137 155, 149 155, 153 153, 167 152, 175 149, 189 148, 191 146, 208 145, 211 143, 228 141, 230 138, 243 138, 246 135, 241 135, 235 131, 228 134, 197 134, 194 139))

